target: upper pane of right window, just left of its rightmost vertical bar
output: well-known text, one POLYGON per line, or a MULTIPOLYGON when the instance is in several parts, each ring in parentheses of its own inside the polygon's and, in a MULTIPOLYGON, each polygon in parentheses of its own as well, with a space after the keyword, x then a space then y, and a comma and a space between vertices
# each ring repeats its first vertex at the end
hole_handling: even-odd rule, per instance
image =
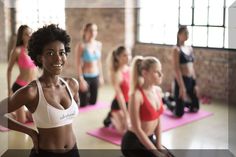
POLYGON ((223 25, 223 7, 210 7, 209 8, 209 25, 223 25))

